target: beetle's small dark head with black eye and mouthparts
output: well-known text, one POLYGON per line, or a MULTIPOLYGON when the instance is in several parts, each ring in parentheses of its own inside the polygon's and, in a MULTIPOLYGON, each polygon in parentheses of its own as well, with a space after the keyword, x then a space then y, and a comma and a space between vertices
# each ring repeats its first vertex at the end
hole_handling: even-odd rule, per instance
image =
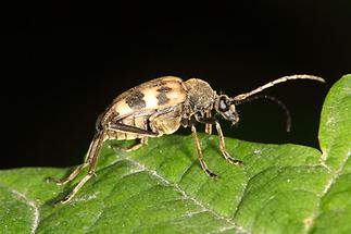
POLYGON ((214 108, 218 114, 233 124, 239 122, 239 115, 236 111, 234 101, 226 95, 218 95, 214 102, 214 108))

